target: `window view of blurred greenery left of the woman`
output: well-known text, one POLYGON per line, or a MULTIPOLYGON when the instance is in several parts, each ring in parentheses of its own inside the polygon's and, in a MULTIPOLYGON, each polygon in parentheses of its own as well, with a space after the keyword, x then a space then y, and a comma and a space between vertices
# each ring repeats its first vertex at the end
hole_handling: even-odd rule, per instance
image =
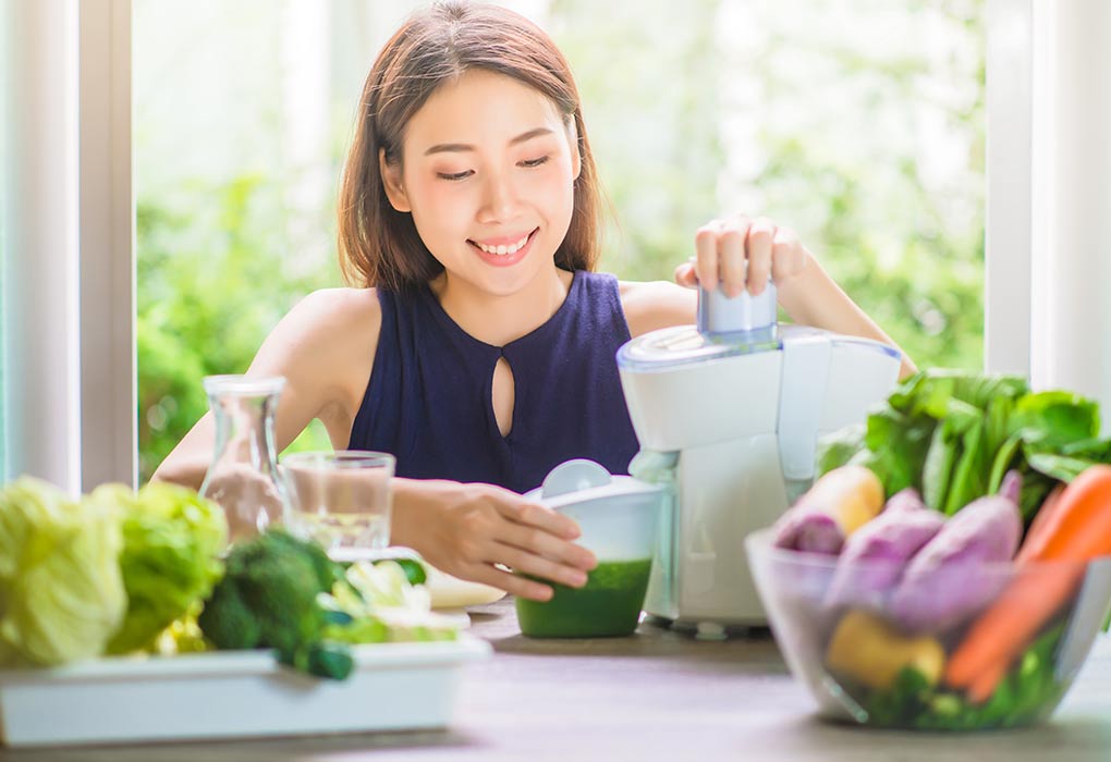
POLYGON ((201 378, 243 372, 299 297, 339 284, 347 117, 329 3, 138 0, 134 21, 142 481, 208 409, 201 378))

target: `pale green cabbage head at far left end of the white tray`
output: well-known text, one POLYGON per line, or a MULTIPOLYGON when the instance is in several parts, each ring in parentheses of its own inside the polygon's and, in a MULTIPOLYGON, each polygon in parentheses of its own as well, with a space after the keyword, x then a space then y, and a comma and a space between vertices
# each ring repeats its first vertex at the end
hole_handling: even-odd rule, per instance
POLYGON ((0 665, 99 655, 127 610, 110 508, 30 477, 0 489, 0 665))

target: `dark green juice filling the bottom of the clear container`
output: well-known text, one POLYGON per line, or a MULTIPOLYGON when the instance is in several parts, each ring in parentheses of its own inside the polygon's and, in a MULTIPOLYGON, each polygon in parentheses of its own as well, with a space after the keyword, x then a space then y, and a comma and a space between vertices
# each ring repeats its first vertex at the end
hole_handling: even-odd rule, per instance
POLYGON ((530 638, 620 638, 640 621, 652 559, 600 561, 582 588, 551 584, 550 601, 517 599, 521 632, 530 638))

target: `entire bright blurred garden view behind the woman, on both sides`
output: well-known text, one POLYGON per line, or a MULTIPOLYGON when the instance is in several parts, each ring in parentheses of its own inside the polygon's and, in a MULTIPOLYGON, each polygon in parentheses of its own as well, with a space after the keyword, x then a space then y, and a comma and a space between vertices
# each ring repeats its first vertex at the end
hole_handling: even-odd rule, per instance
MULTIPOLYGON (((278 319, 341 284, 362 79, 417 2, 134 0, 140 482, 278 319)), ((670 278, 723 212, 799 231, 919 365, 983 351, 984 0, 530 0, 614 208, 602 269, 670 278)), ((321 425, 292 448, 327 448, 321 425)))

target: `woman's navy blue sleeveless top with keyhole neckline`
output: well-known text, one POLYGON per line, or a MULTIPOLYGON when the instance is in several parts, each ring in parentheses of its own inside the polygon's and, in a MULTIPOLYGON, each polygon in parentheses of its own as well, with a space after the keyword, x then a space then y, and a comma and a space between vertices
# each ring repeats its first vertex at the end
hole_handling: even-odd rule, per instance
POLYGON ((638 444, 618 378, 629 325, 613 275, 575 271, 556 314, 504 347, 463 331, 428 288, 378 299, 382 329, 349 449, 393 453, 399 477, 516 492, 571 458, 628 473, 638 444), (491 394, 502 357, 514 384, 507 437, 491 394))

